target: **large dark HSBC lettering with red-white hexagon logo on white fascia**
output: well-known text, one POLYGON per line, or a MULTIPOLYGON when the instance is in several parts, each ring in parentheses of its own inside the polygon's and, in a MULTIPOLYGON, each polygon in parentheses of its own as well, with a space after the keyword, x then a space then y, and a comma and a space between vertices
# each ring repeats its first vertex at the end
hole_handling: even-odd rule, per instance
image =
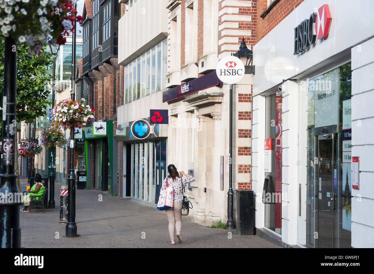
POLYGON ((309 49, 311 45, 316 43, 316 40, 326 38, 330 23, 330 10, 328 4, 324 4, 317 10, 317 13, 312 13, 309 19, 304 20, 294 28, 294 55, 309 49))

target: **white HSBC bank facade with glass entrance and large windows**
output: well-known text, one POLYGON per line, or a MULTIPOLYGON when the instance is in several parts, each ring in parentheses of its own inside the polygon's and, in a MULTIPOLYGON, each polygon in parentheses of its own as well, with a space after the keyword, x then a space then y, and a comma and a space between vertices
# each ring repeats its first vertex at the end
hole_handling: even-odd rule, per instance
POLYGON ((253 48, 255 227, 290 246, 374 247, 374 2, 350 7, 303 1, 253 48))

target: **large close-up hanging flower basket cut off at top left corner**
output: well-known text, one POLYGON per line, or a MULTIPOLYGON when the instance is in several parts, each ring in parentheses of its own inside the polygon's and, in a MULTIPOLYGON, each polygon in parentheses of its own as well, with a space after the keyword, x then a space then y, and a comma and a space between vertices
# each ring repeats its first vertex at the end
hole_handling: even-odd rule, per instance
POLYGON ((77 0, 0 0, 0 34, 27 43, 31 55, 38 53, 43 44, 52 38, 65 44, 74 21, 83 22, 77 15, 77 0))

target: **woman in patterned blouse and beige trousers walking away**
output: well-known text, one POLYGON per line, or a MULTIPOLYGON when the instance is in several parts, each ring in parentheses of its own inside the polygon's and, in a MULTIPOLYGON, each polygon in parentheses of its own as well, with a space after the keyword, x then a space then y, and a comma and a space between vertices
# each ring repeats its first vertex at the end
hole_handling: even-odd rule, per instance
POLYGON ((177 230, 178 243, 182 243, 181 230, 182 230, 182 206, 183 206, 183 194, 182 194, 182 184, 183 186, 187 183, 195 181, 193 176, 180 172, 181 175, 186 176, 183 178, 178 174, 177 168, 174 164, 169 164, 168 166, 169 176, 166 177, 162 182, 161 190, 166 189, 166 181, 168 181, 169 187, 174 189, 173 194, 173 207, 166 209, 166 216, 169 220, 169 235, 170 235, 170 244, 175 244, 174 229, 177 230))

